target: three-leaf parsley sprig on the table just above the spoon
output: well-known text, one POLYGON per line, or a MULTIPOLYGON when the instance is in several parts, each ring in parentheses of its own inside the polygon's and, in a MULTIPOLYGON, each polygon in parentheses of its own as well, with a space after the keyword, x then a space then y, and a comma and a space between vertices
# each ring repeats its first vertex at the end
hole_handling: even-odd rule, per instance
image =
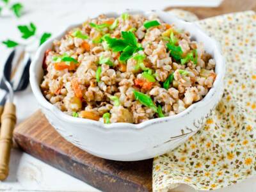
MULTIPOLYGON (((36 36, 36 26, 35 24, 33 24, 33 22, 31 22, 29 25, 17 26, 17 28, 20 31, 21 38, 25 40, 31 38, 32 36, 36 36)), ((40 36, 39 45, 44 44, 44 42, 50 37, 51 33, 43 33, 40 36)), ((3 41, 3 44, 6 45, 6 47, 8 48, 16 47, 17 45, 19 45, 18 42, 15 42, 10 39, 3 41)))

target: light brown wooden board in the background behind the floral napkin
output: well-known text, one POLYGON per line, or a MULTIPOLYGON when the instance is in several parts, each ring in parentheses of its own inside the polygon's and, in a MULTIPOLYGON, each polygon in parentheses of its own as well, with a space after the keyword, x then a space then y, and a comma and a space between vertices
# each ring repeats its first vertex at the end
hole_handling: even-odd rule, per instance
POLYGON ((165 10, 169 11, 172 9, 182 9, 188 12, 193 12, 198 16, 199 19, 205 19, 207 17, 214 17, 217 15, 223 15, 225 13, 243 12, 246 10, 256 11, 256 1, 255 0, 225 0, 220 4, 220 6, 216 8, 175 6, 175 7, 168 7, 165 10))

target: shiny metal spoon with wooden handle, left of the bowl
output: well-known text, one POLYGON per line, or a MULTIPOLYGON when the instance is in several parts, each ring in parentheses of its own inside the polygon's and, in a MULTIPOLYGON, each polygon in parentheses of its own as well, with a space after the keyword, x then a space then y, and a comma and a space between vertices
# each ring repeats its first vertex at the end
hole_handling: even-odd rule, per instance
POLYGON ((9 172, 10 152, 12 148, 12 134, 15 127, 15 105, 13 104, 13 92, 25 90, 29 84, 29 54, 24 47, 17 47, 12 51, 4 65, 0 88, 6 91, 0 104, 3 109, 0 131, 0 180, 6 179, 9 172), (8 102, 4 105, 7 100, 8 102))

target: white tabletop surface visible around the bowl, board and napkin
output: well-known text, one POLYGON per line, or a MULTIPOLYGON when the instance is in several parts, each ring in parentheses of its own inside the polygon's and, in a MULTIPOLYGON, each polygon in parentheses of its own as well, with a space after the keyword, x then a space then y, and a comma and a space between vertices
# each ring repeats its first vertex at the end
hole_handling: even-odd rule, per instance
MULTIPOLYGON (((14 0, 10 0, 14 1, 14 0)), ((21 0, 20 0, 21 1, 21 0)), ((0 17, 0 41, 6 38, 20 40, 18 24, 29 24, 34 22, 38 28, 38 33, 45 31, 52 34, 58 33, 61 29, 74 22, 86 20, 88 15, 97 15, 109 10, 125 10, 126 8, 163 9, 172 4, 182 5, 189 3, 195 5, 204 3, 208 6, 220 3, 220 0, 22 0, 26 8, 26 14, 20 19, 15 17, 0 17), (147 2, 147 3, 145 3, 147 2), (156 1, 155 1, 156 2, 156 1)), ((6 60, 10 49, 0 45, 0 67, 6 60)), ((38 105, 30 88, 25 92, 15 94, 15 104, 17 105, 18 123, 31 115, 38 105)), ((4 182, 0 182, 0 191, 99 191, 84 182, 67 175, 66 173, 52 168, 48 164, 13 149, 10 162, 10 176, 4 182)), ((181 185, 174 191, 191 192, 195 189, 186 185, 181 185)), ((256 178, 248 179, 241 184, 236 184, 225 189, 216 191, 221 192, 256 192, 256 178)))

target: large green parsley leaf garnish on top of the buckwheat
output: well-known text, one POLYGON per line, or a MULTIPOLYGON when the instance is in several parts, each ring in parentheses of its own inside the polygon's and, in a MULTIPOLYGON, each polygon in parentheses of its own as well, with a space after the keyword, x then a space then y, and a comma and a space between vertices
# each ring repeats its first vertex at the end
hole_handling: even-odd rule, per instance
POLYGON ((122 52, 120 55, 120 61, 127 61, 132 57, 134 52, 142 50, 140 44, 131 31, 122 31, 122 39, 111 38, 110 36, 105 36, 104 40, 108 43, 109 48, 113 52, 122 52))

